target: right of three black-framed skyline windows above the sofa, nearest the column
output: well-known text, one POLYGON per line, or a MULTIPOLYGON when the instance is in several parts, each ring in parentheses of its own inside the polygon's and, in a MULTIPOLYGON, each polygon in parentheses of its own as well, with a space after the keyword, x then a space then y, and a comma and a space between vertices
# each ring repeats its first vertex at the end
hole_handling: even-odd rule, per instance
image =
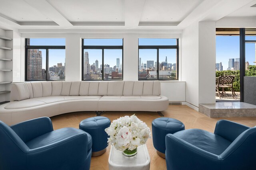
POLYGON ((138 41, 138 80, 178 80, 178 39, 138 41))

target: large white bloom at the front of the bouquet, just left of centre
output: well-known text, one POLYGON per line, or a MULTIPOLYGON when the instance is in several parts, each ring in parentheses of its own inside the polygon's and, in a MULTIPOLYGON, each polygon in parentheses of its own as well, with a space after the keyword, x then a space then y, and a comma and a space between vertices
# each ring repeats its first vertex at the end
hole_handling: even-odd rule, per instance
POLYGON ((122 127, 117 134, 117 143, 118 145, 126 146, 130 143, 132 134, 128 127, 122 127))

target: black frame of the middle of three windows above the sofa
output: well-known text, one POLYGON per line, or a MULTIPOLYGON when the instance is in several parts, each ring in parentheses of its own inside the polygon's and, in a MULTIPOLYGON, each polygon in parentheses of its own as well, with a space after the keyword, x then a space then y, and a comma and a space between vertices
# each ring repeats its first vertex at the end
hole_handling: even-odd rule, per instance
POLYGON ((122 81, 124 79, 124 38, 82 38, 82 81, 122 81), (84 39, 122 39, 122 45, 84 45, 84 39), (102 80, 84 80, 84 49, 102 50, 102 80), (104 80, 104 49, 122 49, 122 79, 104 80))

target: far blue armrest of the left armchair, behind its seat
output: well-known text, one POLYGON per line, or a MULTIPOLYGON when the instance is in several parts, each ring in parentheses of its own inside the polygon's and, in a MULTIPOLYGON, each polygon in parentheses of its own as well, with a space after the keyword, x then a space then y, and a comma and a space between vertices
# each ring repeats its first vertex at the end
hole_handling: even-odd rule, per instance
POLYGON ((53 131, 49 117, 40 117, 12 125, 11 128, 24 143, 50 131, 53 131))

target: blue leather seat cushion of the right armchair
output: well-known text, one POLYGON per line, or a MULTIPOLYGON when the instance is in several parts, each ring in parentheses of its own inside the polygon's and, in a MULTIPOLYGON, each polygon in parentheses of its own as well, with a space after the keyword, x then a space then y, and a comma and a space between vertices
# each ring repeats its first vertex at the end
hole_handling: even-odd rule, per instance
POLYGON ((222 154, 222 152, 231 144, 230 141, 223 137, 202 129, 187 129, 176 132, 173 135, 202 150, 206 150, 207 152, 216 155, 222 154))

